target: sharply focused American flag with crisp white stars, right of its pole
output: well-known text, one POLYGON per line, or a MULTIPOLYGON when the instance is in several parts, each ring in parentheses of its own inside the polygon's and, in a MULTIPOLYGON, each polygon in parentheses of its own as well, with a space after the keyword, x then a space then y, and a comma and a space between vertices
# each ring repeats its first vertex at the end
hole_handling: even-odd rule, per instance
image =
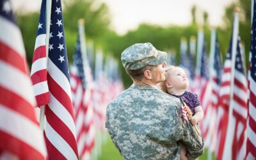
MULTIPOLYGON (((50 9, 45 7, 45 4, 45 0, 43 0, 40 16, 45 16, 45 9, 50 9)), ((47 19, 47 17, 43 19, 47 19)), ((49 103, 45 105, 46 120, 44 129, 48 157, 49 159, 78 159, 60 0, 52 1, 51 24, 49 25, 50 31, 46 33, 49 34, 49 44, 45 43, 45 45, 49 45, 49 55, 45 58, 47 61, 49 103)), ((38 30, 42 29, 43 26, 46 26, 45 22, 40 21, 38 30)), ((42 41, 47 42, 47 39, 42 41)), ((33 67, 38 67, 36 65, 38 63, 40 61, 34 61, 31 70, 36 70, 33 67)), ((42 61, 42 63, 45 63, 45 61, 42 61)))

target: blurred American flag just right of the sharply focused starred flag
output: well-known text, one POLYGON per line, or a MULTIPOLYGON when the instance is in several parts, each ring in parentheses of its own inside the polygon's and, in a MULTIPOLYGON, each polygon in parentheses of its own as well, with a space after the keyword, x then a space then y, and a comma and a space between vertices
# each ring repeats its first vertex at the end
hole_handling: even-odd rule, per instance
POLYGON ((83 25, 79 24, 78 40, 76 44, 76 53, 71 68, 70 84, 72 89, 72 100, 74 104, 75 122, 77 131, 77 147, 79 158, 90 158, 90 152, 94 145, 95 128, 93 124, 93 106, 92 106, 92 71, 88 64, 86 54, 82 53, 82 46, 85 44, 83 37, 83 25), (84 54, 84 57, 82 57, 84 54), (86 74, 85 74, 86 73, 86 74))

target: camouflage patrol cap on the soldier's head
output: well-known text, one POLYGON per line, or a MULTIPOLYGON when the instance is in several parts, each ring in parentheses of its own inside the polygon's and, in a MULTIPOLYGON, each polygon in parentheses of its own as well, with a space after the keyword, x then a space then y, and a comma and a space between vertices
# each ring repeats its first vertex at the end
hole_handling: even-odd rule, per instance
POLYGON ((126 70, 137 70, 146 65, 160 65, 166 60, 166 52, 157 51, 149 42, 134 44, 122 52, 121 60, 126 70))

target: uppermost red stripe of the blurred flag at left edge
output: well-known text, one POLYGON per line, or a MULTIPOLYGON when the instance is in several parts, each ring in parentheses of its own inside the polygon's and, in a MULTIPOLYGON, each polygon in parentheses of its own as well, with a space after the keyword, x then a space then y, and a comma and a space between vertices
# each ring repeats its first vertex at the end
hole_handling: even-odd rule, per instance
POLYGON ((6 63, 9 63, 9 65, 12 65, 13 67, 19 69, 21 72, 27 74, 27 68, 25 66, 25 59, 20 56, 20 54, 16 51, 14 51, 11 47, 8 45, 3 44, 3 42, 0 41, 0 59, 5 61, 6 63))

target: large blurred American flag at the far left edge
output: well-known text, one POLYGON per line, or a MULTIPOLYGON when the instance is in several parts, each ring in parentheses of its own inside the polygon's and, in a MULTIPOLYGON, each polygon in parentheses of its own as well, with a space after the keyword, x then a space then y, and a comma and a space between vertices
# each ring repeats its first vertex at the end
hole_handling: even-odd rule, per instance
POLYGON ((0 159, 45 159, 26 52, 8 0, 0 1, 0 24, 0 159))

